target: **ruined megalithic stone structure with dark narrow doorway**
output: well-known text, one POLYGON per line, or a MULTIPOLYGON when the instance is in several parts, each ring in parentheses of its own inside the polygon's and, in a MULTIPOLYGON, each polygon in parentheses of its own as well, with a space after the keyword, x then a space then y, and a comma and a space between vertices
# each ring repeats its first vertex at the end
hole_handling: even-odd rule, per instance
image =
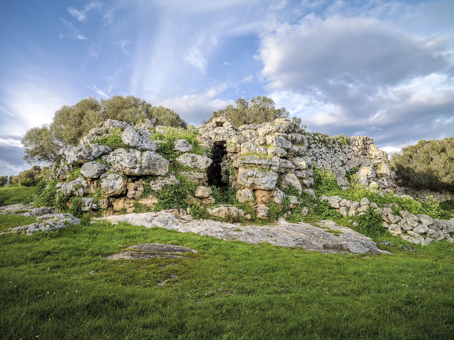
MULTIPOLYGON (((161 150, 166 141, 153 140, 152 136, 155 132, 165 134, 169 129, 175 128, 153 126, 149 120, 134 126, 112 119, 101 122, 81 139, 79 146, 66 146, 59 151, 60 163, 52 170, 52 177, 62 180, 58 191, 80 197, 84 212, 103 209, 104 216, 132 213, 136 210, 135 202, 149 209, 158 203, 153 195, 144 197, 145 185, 158 192, 164 185, 177 184, 178 175, 182 175, 197 185, 188 203, 205 205, 211 216, 251 218, 237 207, 215 205, 209 185, 216 185, 237 189, 237 200, 251 204, 257 217, 266 219, 267 204, 280 206, 286 198, 281 189, 293 187, 298 193, 305 191, 315 198, 311 190, 313 165, 331 169, 343 187, 350 185, 346 171, 357 167, 356 175, 362 185, 395 190, 395 173, 390 169, 386 152, 368 137, 330 137, 308 132, 299 122, 286 118, 236 127, 225 117, 214 117, 198 128, 176 129, 183 136, 195 134, 198 143, 193 144, 198 145, 176 140, 172 148, 177 156, 166 159, 161 150), (103 145, 114 136, 125 147, 112 150, 103 145), (183 170, 169 171, 169 162, 178 163, 183 170), (68 176, 78 168, 80 176, 68 181, 68 176), (87 197, 99 189, 99 201, 87 197)), ((291 208, 300 204, 296 196, 287 198, 291 208)))

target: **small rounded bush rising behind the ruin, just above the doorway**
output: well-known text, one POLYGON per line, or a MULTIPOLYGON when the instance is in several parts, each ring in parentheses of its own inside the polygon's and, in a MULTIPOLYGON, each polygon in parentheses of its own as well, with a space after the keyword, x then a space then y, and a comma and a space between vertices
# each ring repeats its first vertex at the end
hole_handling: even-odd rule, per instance
POLYGON ((240 126, 261 124, 264 121, 272 122, 278 117, 289 117, 289 112, 285 107, 276 109, 274 101, 266 96, 253 97, 249 102, 246 99, 238 98, 235 104, 236 107, 230 104, 226 108, 213 111, 213 115, 208 121, 212 121, 213 117, 223 116, 230 119, 235 126, 240 126))

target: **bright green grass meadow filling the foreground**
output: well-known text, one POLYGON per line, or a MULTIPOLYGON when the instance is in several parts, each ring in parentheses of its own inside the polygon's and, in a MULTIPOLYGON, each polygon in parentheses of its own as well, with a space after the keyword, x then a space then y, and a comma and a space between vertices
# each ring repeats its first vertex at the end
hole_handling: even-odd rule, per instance
POLYGON ((452 339, 454 245, 380 247, 396 253, 322 254, 86 219, 0 235, 0 339, 452 339), (198 253, 106 259, 142 242, 198 253))

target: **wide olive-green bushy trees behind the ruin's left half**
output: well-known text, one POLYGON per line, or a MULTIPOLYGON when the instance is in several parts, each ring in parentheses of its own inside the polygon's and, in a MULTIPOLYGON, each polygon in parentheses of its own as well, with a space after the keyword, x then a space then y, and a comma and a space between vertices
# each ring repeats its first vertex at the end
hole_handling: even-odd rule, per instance
POLYGON ((76 104, 60 107, 49 127, 33 127, 22 138, 24 159, 32 164, 39 161, 52 162, 56 152, 65 144, 78 145, 80 138, 97 127, 101 121, 117 119, 135 124, 145 118, 155 125, 186 127, 177 112, 166 107, 155 107, 134 96, 115 95, 109 99, 84 98, 76 104))

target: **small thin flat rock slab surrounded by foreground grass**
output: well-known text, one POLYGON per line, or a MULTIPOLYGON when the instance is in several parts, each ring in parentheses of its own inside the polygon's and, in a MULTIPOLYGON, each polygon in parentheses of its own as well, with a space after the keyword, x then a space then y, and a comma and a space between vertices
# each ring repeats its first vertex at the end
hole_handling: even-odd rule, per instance
POLYGON ((164 257, 164 258, 191 258, 194 257, 185 257, 181 256, 184 253, 197 253, 197 250, 186 248, 182 246, 175 246, 173 244, 163 244, 163 243, 139 243, 129 246, 127 249, 117 254, 112 254, 107 258, 109 260, 119 260, 119 259, 139 259, 139 260, 148 260, 153 257, 164 257))

